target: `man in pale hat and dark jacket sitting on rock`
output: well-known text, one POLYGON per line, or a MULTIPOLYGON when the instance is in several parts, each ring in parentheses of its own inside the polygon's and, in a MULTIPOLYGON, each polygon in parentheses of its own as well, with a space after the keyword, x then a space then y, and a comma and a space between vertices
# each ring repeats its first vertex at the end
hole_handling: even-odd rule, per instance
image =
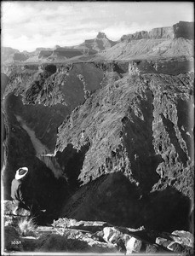
POLYGON ((31 208, 28 206, 26 201, 26 195, 24 190, 24 180, 26 179, 26 174, 28 172, 27 167, 19 168, 15 173, 15 178, 11 185, 11 197, 13 200, 14 215, 30 215, 31 208))

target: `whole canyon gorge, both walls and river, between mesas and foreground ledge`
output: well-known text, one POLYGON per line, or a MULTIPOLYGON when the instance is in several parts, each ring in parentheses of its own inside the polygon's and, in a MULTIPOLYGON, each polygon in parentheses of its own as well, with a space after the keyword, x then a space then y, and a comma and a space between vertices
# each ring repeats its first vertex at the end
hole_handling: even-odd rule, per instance
POLYGON ((189 230, 193 73, 174 61, 10 67, 6 197, 28 166, 29 193, 61 217, 189 230))

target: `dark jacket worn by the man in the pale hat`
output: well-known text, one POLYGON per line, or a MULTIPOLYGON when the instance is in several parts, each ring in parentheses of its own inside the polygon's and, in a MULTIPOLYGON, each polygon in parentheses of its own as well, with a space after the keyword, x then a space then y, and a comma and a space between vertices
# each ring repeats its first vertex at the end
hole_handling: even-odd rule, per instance
POLYGON ((14 179, 11 186, 11 197, 19 207, 26 208, 26 196, 24 195, 24 185, 19 179, 14 179))

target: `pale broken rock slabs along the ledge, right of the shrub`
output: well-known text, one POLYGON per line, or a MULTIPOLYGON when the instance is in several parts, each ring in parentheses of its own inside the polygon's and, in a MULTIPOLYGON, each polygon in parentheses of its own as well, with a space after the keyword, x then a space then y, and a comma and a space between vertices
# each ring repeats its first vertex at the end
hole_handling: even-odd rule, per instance
MULTIPOLYGON (((105 222, 80 221, 75 219, 60 218, 52 224, 62 234, 75 233, 80 231, 78 239, 82 238, 81 233, 89 236, 100 243, 107 242, 109 247, 115 245, 116 253, 182 253, 192 255, 193 236, 190 232, 175 230, 172 233, 158 232, 155 230, 128 229, 119 226, 112 226, 105 222)), ((84 236, 83 235, 83 236, 84 236)), ((108 248, 109 248, 108 247, 108 248)))

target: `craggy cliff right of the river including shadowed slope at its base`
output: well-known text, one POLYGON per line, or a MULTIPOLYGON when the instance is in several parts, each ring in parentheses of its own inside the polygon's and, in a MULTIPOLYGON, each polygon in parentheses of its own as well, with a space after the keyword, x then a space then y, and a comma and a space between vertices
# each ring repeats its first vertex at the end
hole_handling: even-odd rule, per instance
POLYGON ((61 216, 189 229, 193 73, 135 72, 117 80, 109 73, 106 79, 59 127, 59 157, 71 145, 89 148, 79 175, 83 187, 61 216))

